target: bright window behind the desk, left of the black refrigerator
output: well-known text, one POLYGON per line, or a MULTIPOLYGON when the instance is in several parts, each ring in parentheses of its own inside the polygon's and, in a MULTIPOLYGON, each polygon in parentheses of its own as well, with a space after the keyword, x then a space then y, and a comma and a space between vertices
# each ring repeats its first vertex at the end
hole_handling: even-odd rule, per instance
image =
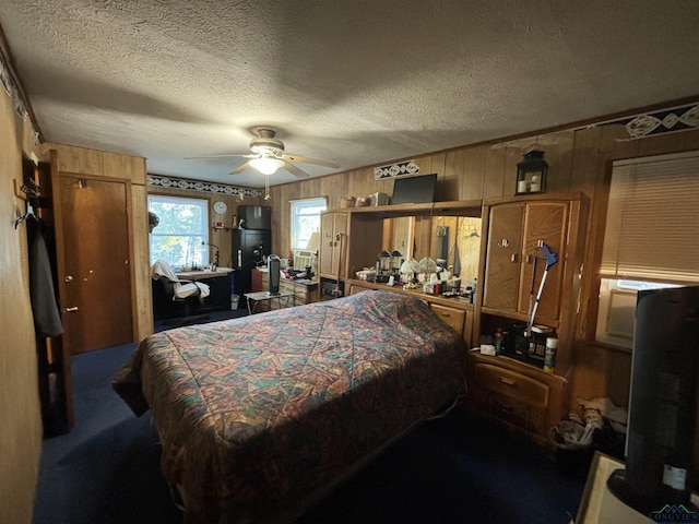
POLYGON ((151 233, 151 263, 162 259, 176 270, 203 267, 208 262, 209 201, 149 195, 149 211, 159 221, 151 233))

